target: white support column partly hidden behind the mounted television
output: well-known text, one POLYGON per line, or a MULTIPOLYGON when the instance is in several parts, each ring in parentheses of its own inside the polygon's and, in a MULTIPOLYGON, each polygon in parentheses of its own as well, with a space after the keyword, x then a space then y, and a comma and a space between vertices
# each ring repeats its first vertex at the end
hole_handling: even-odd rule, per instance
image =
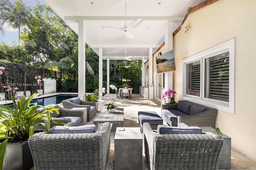
MULTIPOLYGON (((164 35, 164 47, 165 52, 173 49, 173 20, 168 20, 165 25, 165 35, 164 35)), ((172 71, 164 74, 164 88, 165 90, 172 89, 172 71)))

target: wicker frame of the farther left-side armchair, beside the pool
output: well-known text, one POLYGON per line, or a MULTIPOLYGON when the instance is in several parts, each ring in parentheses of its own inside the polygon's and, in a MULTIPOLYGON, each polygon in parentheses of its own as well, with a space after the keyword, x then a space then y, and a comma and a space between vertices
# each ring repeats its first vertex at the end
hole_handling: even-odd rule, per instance
POLYGON ((62 101, 63 107, 66 109, 72 109, 74 107, 86 107, 87 121, 89 122, 90 120, 92 120, 92 118, 96 115, 98 111, 99 101, 84 101, 80 99, 80 103, 80 105, 77 105, 75 103, 70 102, 69 99, 62 101), (93 111, 91 109, 91 106, 95 106, 95 109, 93 111))

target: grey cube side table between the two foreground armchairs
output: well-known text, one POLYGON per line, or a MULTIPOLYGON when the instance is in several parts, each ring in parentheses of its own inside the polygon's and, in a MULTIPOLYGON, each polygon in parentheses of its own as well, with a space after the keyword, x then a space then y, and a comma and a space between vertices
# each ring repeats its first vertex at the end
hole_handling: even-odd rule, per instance
POLYGON ((142 170, 142 134, 139 127, 116 128, 115 170, 142 170))

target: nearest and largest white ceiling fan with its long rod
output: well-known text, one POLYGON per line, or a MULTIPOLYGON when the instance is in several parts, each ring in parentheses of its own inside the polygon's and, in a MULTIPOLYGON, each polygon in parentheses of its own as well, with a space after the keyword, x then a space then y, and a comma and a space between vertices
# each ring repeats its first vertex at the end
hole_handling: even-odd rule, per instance
POLYGON ((135 28, 135 27, 139 26, 142 23, 142 21, 143 21, 143 19, 139 18, 139 19, 131 22, 130 24, 126 25, 126 0, 125 0, 125 24, 124 24, 124 27, 117 28, 117 27, 102 26, 102 28, 115 28, 115 29, 119 29, 122 32, 124 32, 124 34, 125 34, 124 36, 125 37, 134 38, 134 36, 133 36, 132 32, 130 32, 130 30, 132 28, 135 28))

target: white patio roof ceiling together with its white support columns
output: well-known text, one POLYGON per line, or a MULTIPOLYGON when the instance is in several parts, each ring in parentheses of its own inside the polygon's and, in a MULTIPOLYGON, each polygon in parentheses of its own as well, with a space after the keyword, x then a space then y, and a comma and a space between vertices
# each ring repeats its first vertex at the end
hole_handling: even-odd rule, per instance
MULTIPOLYGON (((109 91, 109 60, 140 59, 149 62, 146 81, 145 65, 142 64, 142 86, 153 83, 153 53, 164 43, 166 51, 173 49, 173 32, 182 24, 190 7, 204 0, 158 2, 144 0, 44 0, 50 8, 78 34, 78 96, 85 91, 85 43, 107 60, 107 91, 109 91), (134 38, 126 37, 122 28, 142 18, 143 22, 128 30, 134 38), (126 53, 127 52, 127 53, 126 53)), ((102 71, 99 71, 99 89, 102 89, 102 71)), ((166 81, 172 78, 166 77, 166 81)), ((172 83, 168 85, 172 87, 172 83)), ((167 87, 166 87, 167 88, 167 87)))

